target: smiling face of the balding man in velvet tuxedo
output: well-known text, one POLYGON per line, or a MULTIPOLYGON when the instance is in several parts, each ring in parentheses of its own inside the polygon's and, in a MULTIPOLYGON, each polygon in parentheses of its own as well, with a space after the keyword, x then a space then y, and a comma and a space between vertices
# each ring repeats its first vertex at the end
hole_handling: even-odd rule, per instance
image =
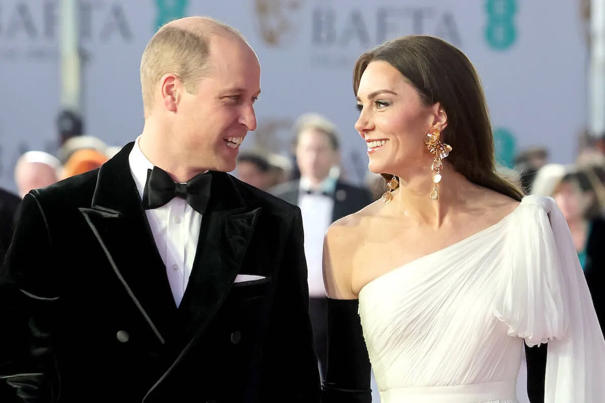
POLYGON ((260 65, 241 40, 212 37, 209 77, 177 105, 178 141, 188 163, 200 169, 235 169, 241 142, 257 128, 253 104, 260 94, 260 65))

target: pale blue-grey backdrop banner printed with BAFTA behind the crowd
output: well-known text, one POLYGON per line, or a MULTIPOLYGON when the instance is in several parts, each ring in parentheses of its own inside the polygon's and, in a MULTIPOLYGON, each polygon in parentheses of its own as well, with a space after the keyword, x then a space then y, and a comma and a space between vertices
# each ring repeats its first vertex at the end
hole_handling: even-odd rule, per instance
MULTIPOLYGON (((22 152, 56 149, 58 11, 56 0, 0 2, 0 186, 8 189, 22 152)), ((80 0, 79 15, 85 131, 110 145, 140 133, 140 56, 159 25, 182 15, 222 19, 258 53, 259 127, 244 148, 258 143, 285 153, 292 121, 319 112, 338 124, 352 181, 367 172, 353 127, 353 64, 368 48, 405 34, 440 36, 469 56, 505 164, 532 145, 571 162, 586 123, 579 0, 80 0)))

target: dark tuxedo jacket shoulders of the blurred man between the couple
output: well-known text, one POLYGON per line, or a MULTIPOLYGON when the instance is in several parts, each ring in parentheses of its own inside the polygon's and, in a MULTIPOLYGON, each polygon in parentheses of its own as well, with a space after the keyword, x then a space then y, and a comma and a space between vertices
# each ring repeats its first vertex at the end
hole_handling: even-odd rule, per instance
MULTIPOLYGON (((290 181, 278 185, 270 192, 285 201, 297 205, 300 181, 290 181)), ((355 187, 342 181, 336 181, 336 187, 332 195, 334 199, 334 210, 332 211, 332 222, 361 210, 374 200, 367 189, 355 187)))

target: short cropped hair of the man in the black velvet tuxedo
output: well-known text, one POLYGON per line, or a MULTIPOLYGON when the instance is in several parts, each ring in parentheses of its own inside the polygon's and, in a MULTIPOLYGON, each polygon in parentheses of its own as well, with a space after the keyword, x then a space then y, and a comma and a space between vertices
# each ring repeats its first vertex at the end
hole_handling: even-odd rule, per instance
POLYGON ((176 74, 186 91, 195 94, 200 79, 208 76, 212 36, 234 36, 246 42, 239 31, 224 22, 209 17, 193 18, 200 19, 196 27, 182 28, 169 22, 155 33, 145 47, 140 65, 145 111, 152 108, 155 85, 165 74, 176 74))

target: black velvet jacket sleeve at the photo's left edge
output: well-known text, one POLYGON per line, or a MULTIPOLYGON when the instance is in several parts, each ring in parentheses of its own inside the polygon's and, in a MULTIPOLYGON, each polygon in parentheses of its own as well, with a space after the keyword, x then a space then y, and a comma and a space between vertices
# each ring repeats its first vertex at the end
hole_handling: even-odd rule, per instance
POLYGON ((20 401, 56 402, 59 379, 52 334, 59 307, 53 246, 35 191, 21 205, 0 271, 0 377, 20 401))

